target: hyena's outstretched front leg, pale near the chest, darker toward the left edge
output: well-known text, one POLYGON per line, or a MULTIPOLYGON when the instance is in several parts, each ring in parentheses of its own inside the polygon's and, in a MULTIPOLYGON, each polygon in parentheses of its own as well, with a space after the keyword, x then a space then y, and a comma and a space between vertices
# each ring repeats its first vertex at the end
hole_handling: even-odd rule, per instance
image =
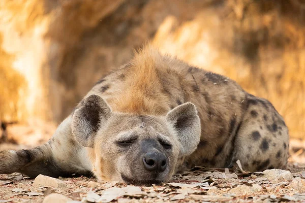
POLYGON ((72 174, 90 176, 87 151, 74 139, 72 117, 66 118, 46 144, 29 150, 0 152, 0 174, 19 172, 31 178, 39 174, 67 177, 72 174))

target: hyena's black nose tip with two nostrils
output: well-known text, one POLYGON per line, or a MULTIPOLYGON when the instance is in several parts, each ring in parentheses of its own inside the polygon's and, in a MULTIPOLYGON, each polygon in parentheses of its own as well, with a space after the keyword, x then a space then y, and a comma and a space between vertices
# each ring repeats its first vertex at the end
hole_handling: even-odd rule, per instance
POLYGON ((147 171, 164 172, 166 169, 166 157, 160 152, 148 152, 143 157, 144 167, 147 171))

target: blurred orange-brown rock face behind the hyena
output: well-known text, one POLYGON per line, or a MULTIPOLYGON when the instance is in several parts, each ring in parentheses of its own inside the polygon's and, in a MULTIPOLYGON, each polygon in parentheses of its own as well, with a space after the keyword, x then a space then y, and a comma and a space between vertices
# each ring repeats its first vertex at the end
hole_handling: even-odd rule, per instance
POLYGON ((298 2, 3 0, 0 120, 62 121, 95 81, 149 40, 270 99, 292 136, 301 137, 305 29, 298 2))

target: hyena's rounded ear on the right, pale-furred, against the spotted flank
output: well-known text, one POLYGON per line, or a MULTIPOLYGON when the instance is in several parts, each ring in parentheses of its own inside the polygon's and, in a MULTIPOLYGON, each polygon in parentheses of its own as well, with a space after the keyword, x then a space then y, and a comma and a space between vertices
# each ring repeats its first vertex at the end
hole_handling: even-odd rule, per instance
POLYGON ((185 103, 172 109, 166 115, 166 120, 177 131, 181 144, 179 156, 193 153, 200 142, 201 127, 197 113, 195 105, 185 103))

